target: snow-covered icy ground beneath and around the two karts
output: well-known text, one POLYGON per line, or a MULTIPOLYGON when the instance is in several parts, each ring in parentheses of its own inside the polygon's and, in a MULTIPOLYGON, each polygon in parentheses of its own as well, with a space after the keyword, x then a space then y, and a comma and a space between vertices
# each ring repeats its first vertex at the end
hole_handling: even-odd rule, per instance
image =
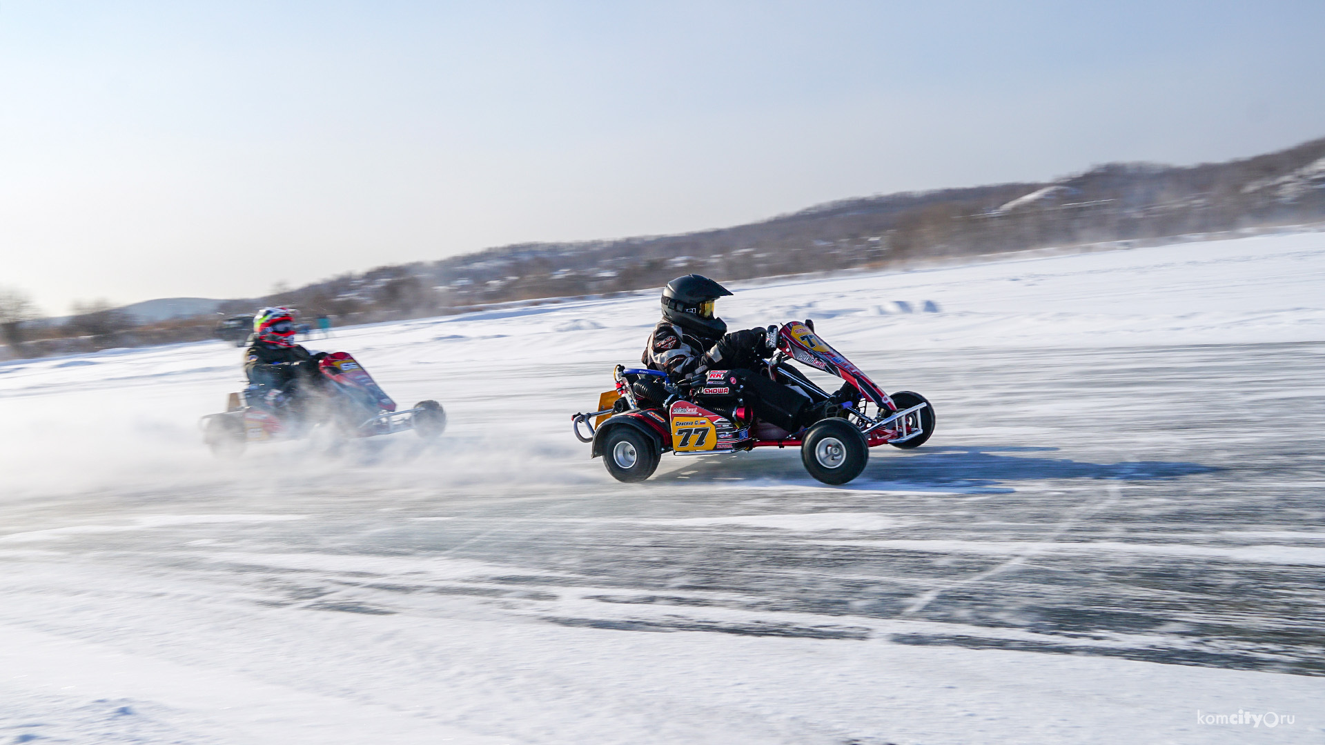
POLYGON ((652 293, 310 342, 450 414, 337 460, 205 452, 221 343, 0 365, 0 742, 1325 737, 1325 235, 719 310, 814 318, 938 433, 840 489, 794 451, 620 485, 570 414, 652 293))

